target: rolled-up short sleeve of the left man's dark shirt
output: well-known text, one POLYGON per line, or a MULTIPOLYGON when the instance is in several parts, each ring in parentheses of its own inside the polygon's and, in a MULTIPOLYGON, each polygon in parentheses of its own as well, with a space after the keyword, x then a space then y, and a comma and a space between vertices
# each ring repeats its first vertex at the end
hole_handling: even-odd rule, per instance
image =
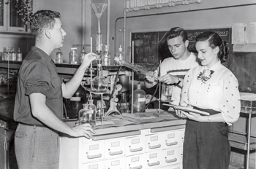
POLYGON ((50 72, 44 64, 40 62, 30 63, 24 70, 23 76, 26 95, 30 95, 31 93, 42 93, 48 97, 50 72))

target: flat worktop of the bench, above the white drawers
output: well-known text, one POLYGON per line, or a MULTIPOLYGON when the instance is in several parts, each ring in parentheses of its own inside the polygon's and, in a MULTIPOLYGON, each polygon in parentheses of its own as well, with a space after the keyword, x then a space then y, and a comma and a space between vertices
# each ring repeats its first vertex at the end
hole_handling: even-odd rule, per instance
MULTIPOLYGON (((137 135, 140 134, 140 130, 144 129, 150 129, 151 133, 157 133, 185 127, 186 120, 176 116, 174 111, 164 112, 165 114, 168 114, 168 117, 153 117, 152 114, 157 113, 156 109, 147 109, 145 114, 147 114, 148 117, 153 117, 151 119, 136 119, 133 114, 129 114, 129 117, 125 115, 105 117, 106 120, 112 121, 113 124, 93 127, 95 134, 92 137, 92 140, 97 141, 108 138, 137 135)), ((66 123, 70 126, 75 125, 75 121, 67 121, 66 123)))

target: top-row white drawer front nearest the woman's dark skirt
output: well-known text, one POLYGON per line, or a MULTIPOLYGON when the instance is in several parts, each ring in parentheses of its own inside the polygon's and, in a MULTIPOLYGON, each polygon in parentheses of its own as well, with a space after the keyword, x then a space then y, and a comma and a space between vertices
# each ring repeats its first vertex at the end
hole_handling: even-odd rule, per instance
POLYGON ((173 147, 183 146, 184 130, 164 132, 162 133, 162 140, 165 141, 162 149, 170 149, 173 147))

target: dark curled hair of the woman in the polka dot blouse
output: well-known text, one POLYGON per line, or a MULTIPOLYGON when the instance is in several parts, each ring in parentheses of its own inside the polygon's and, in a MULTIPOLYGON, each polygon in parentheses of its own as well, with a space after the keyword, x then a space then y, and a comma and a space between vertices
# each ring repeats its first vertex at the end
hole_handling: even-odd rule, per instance
POLYGON ((195 42, 208 41, 209 47, 219 47, 218 58, 223 62, 227 60, 227 43, 222 40, 219 34, 212 31, 205 31, 195 37, 195 42))

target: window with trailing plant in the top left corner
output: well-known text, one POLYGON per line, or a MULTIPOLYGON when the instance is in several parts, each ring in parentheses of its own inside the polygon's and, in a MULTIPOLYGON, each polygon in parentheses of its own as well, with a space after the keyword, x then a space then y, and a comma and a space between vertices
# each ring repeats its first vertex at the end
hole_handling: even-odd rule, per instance
POLYGON ((12 0, 0 0, 0 31, 26 32, 24 15, 20 15, 20 11, 28 7, 32 7, 31 0, 17 0, 15 3, 12 0))

